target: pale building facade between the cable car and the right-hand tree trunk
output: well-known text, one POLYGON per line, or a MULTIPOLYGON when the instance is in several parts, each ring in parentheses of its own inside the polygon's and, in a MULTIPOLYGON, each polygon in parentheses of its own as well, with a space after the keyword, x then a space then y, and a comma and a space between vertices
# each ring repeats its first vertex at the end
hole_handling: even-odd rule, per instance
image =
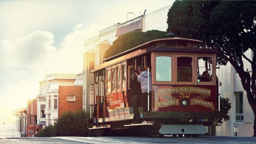
MULTIPOLYGON (((252 52, 244 53, 249 59, 252 59, 252 52)), ((245 71, 251 73, 251 65, 244 60, 245 71)), ((217 136, 238 136, 251 137, 254 133, 254 113, 248 103, 246 92, 244 91, 241 79, 236 73, 235 68, 228 63, 227 66, 220 66, 219 78, 220 96, 228 97, 232 108, 229 111, 230 120, 223 125, 216 127, 217 136)))

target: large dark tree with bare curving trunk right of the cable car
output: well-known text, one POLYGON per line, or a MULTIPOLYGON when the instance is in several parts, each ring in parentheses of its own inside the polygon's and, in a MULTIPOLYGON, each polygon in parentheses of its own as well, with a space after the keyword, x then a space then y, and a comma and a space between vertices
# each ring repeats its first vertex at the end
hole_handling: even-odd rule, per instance
POLYGON ((202 40, 201 48, 218 49, 218 64, 232 64, 254 112, 256 137, 256 1, 175 1, 167 23, 168 32, 202 40), (244 54, 248 50, 252 57, 244 54), (251 64, 250 73, 245 62, 251 64))

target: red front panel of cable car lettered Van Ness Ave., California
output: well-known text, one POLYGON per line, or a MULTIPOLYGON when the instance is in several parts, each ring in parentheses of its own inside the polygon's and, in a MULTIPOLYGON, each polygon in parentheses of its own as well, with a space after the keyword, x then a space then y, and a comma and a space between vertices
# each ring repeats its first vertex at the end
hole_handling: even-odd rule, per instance
POLYGON ((214 85, 172 86, 153 85, 153 111, 214 112, 216 87, 214 85), (181 104, 183 100, 188 104, 181 104), (205 109, 204 109, 205 108, 205 109))

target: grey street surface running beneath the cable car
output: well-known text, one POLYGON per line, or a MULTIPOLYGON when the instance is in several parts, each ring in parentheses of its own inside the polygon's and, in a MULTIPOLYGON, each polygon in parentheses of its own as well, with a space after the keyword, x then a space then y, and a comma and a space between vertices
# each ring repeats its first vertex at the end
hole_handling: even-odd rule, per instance
POLYGON ((0 144, 255 144, 256 137, 0 137, 0 144))

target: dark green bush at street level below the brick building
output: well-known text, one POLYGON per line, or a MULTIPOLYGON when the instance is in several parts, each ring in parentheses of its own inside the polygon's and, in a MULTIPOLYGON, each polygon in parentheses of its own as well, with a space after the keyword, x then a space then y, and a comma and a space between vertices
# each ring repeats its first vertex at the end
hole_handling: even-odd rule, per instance
POLYGON ((90 131, 87 123, 90 114, 85 110, 77 112, 64 112, 54 126, 49 125, 41 130, 36 137, 88 137, 98 136, 100 131, 90 131))

